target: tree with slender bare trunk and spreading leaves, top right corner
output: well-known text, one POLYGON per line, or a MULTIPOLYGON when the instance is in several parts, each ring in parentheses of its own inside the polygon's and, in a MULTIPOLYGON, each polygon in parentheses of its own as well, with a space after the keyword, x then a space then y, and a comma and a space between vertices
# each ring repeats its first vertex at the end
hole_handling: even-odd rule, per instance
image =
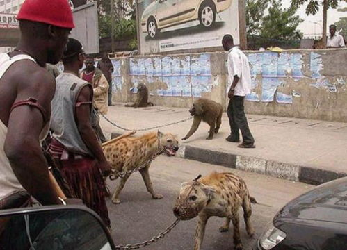
POLYGON ((323 6, 323 31, 322 31, 322 40, 323 47, 326 47, 327 42, 327 19, 328 19, 328 9, 337 8, 339 2, 344 1, 347 3, 347 0, 291 0, 293 6, 302 6, 307 3, 306 14, 307 15, 316 15, 321 6, 323 6))

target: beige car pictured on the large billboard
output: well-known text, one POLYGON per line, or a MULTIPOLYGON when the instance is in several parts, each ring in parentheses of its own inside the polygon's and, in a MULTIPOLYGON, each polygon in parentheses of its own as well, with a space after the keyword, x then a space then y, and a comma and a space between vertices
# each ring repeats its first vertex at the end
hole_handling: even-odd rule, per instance
POLYGON ((232 0, 154 0, 141 18, 142 31, 155 38, 161 28, 199 20, 206 28, 216 21, 216 13, 227 10, 232 0))

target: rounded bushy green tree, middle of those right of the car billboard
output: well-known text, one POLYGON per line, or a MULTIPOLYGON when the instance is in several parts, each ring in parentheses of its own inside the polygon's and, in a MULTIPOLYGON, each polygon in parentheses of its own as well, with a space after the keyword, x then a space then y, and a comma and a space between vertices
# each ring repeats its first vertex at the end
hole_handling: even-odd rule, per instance
POLYGON ((262 38, 287 40, 296 35, 298 25, 302 19, 296 15, 297 7, 282 8, 281 0, 271 1, 266 15, 261 24, 260 35, 262 38))

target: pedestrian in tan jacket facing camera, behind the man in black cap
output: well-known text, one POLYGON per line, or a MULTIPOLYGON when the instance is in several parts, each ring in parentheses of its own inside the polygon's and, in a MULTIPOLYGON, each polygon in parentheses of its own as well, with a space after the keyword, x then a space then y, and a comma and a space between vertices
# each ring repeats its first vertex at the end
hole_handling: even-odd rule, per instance
POLYGON ((100 69, 97 69, 95 60, 92 56, 87 56, 85 61, 86 69, 81 73, 81 78, 84 81, 92 84, 94 91, 95 106, 100 113, 106 115, 108 111, 108 82, 100 69))

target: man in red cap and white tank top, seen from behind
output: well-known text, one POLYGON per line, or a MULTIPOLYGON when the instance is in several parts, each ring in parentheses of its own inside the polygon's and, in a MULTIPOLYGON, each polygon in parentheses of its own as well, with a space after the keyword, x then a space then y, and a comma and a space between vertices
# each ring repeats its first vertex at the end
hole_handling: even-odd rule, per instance
POLYGON ((67 0, 26 0, 17 19, 21 39, 15 51, 0 54, 0 209, 27 206, 29 194, 42 205, 65 203, 49 179, 40 139, 56 88, 45 65, 63 56, 72 11, 67 0))

